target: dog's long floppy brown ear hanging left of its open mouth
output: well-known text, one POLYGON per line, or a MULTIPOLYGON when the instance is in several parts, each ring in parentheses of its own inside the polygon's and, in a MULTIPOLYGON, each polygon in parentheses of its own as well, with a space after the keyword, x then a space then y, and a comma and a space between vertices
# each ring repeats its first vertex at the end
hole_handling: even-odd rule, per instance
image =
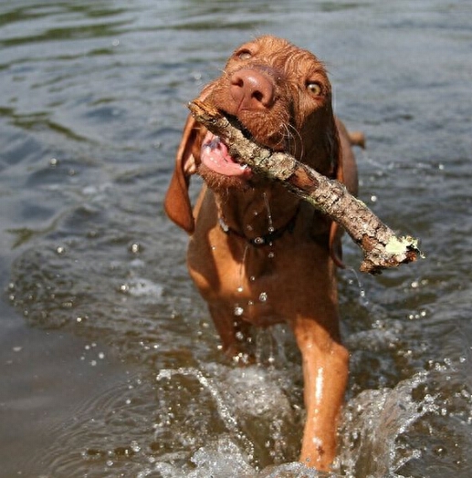
MULTIPOLYGON (((211 93, 213 84, 207 85, 198 99, 204 101, 211 93)), ((194 214, 188 188, 190 176, 196 172, 200 161, 200 148, 206 129, 200 126, 192 116, 185 122, 184 133, 175 155, 175 167, 164 199, 164 210, 170 219, 182 227, 188 234, 194 233, 194 214)))

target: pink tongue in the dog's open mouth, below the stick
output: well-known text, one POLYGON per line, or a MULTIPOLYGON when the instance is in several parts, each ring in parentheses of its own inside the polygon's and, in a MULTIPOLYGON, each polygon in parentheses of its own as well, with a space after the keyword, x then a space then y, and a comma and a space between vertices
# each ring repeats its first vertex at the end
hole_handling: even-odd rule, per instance
POLYGON ((233 160, 226 144, 211 132, 206 133, 202 144, 201 160, 207 168, 225 176, 251 175, 250 168, 233 160))

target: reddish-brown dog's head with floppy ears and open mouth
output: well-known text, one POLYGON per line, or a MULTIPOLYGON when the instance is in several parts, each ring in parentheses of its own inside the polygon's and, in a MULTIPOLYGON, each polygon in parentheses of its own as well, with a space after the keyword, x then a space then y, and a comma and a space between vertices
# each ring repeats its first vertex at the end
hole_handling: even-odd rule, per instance
MULTIPOLYGON (((261 36, 236 48, 223 75, 207 85, 199 99, 235 117, 256 142, 336 176, 340 148, 330 81, 309 51, 261 36)), ((189 118, 165 200, 171 219, 189 233, 194 218, 187 190, 194 172, 220 190, 259 181, 229 156, 221 140, 189 118)))

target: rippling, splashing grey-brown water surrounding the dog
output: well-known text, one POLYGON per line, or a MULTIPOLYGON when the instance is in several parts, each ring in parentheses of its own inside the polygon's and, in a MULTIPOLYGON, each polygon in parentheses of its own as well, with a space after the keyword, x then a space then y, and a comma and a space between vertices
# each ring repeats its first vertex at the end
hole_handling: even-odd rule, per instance
POLYGON ((336 476, 470 475, 467 2, 21 0, 0 18, 2 477, 318 476, 294 462, 293 338, 226 362, 162 207, 185 103, 263 33, 327 62, 367 136, 362 200, 426 255, 341 273, 336 476))

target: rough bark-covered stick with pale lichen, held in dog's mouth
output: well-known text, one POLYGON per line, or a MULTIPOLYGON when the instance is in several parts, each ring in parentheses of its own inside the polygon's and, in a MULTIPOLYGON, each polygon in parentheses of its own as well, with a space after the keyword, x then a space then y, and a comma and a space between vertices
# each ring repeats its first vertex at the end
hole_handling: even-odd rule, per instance
POLYGON ((281 182, 313 207, 339 223, 362 248, 362 272, 380 274, 382 269, 414 262, 423 257, 413 237, 397 237, 346 187, 330 180, 284 152, 274 152, 246 138, 243 131, 214 107, 200 100, 189 103, 194 119, 225 140, 232 157, 267 178, 281 182))

